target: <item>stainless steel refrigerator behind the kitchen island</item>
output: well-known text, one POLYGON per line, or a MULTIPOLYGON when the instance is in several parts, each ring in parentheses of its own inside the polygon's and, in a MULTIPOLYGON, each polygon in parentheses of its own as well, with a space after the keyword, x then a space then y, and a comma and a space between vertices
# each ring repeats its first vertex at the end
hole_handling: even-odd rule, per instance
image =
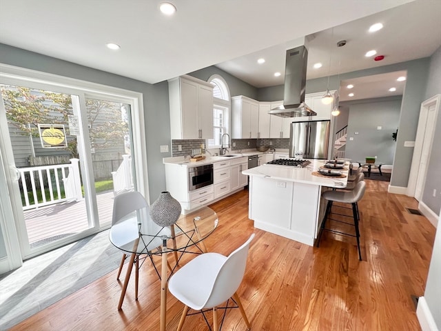
POLYGON ((327 159, 330 121, 292 122, 289 157, 327 159))

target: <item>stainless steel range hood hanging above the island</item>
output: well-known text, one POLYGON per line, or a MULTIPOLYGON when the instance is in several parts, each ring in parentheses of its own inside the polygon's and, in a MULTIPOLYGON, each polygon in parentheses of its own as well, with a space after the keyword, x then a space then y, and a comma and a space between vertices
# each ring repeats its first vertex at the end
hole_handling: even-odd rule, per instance
POLYGON ((308 50, 305 46, 287 50, 283 106, 269 110, 269 114, 280 117, 315 116, 317 114, 305 103, 307 62, 308 50))

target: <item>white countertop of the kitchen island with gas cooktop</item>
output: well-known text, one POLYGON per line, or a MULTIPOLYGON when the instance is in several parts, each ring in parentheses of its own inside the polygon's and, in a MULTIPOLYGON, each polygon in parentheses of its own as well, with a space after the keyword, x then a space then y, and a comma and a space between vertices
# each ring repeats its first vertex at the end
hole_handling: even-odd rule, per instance
MULTIPOLYGON (((263 164, 256 168, 244 170, 242 173, 248 176, 265 177, 278 181, 294 181, 312 185, 322 185, 329 188, 345 188, 347 184, 348 170, 342 170, 345 178, 318 177, 311 174, 325 164, 325 160, 310 159, 311 163, 305 168, 290 167, 288 165, 263 164)), ((349 168, 346 166, 346 168, 349 168)))

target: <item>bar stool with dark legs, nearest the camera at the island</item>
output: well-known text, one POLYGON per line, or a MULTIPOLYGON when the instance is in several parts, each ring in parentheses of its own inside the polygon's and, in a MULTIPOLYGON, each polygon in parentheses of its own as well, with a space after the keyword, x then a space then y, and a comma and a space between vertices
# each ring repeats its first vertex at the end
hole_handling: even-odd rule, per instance
MULTIPOLYGON (((360 217, 358 214, 358 201, 360 201, 360 199, 362 199, 363 195, 365 194, 365 190, 366 190, 365 181, 359 181, 353 190, 345 190, 345 191, 329 190, 329 191, 322 193, 322 197, 324 199, 327 199, 328 203, 327 203, 327 207, 326 207, 325 217, 323 217, 322 225, 320 227, 320 233, 318 234, 317 247, 320 245, 320 239, 322 237, 323 231, 329 231, 329 232, 333 232, 336 234, 342 234, 342 235, 346 235, 346 236, 350 236, 350 237, 356 237, 357 247, 358 247, 358 259, 360 261, 362 261, 361 249, 360 249, 360 230, 358 229, 358 221, 360 221, 360 217), (340 202, 340 203, 351 203, 353 223, 347 223, 345 221, 341 221, 338 219, 331 219, 331 218, 329 218, 329 220, 353 225, 356 230, 355 235, 326 228, 326 221, 327 221, 328 216, 331 212, 332 203, 334 201, 340 202)), ((340 207, 340 206, 336 205, 335 207, 340 207)), ((338 215, 343 216, 343 217, 351 217, 351 216, 345 215, 345 214, 338 214, 338 215)))

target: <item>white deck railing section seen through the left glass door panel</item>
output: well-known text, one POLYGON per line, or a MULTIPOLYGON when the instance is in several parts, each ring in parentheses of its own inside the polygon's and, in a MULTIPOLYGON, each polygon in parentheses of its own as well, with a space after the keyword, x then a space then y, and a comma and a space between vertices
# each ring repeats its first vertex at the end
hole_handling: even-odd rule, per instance
POLYGON ((19 168, 18 171, 20 173, 21 196, 24 197, 23 210, 62 201, 83 199, 79 159, 70 159, 70 164, 41 165, 19 168), (30 188, 28 188, 26 178, 30 179, 30 188), (33 201, 29 199, 28 192, 32 192, 33 201), (39 201, 38 192, 41 193, 42 201, 39 201))

